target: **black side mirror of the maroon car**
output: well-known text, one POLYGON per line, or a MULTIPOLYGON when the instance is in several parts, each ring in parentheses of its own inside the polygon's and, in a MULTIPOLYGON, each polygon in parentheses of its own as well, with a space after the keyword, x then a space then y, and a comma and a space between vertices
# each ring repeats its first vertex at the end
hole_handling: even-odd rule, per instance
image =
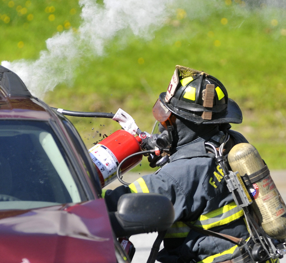
POLYGON ((117 211, 110 213, 117 237, 166 230, 174 217, 171 201, 154 193, 124 194, 118 200, 117 211))

